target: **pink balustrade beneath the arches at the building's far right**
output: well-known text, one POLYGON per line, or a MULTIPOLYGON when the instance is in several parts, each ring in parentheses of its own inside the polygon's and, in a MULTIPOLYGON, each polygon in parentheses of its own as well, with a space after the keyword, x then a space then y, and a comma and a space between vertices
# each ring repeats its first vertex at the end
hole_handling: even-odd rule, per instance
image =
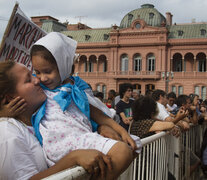
POLYGON ((174 72, 175 79, 207 79, 207 72, 197 72, 197 71, 182 71, 174 72))

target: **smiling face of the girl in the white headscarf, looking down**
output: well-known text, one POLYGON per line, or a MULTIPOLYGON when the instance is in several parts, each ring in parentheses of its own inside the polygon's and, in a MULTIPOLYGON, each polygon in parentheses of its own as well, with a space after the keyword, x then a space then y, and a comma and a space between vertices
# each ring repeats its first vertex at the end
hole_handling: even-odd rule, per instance
POLYGON ((32 66, 40 82, 49 89, 55 89, 61 84, 58 68, 41 56, 32 57, 32 66))

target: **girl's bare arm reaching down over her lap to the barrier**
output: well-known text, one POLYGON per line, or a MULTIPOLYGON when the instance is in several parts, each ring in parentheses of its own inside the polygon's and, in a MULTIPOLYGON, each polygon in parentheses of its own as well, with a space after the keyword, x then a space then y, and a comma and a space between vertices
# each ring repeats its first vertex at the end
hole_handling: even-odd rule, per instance
POLYGON ((121 127, 117 122, 115 122, 113 119, 106 116, 101 110, 90 105, 90 115, 91 115, 91 118, 97 124, 107 125, 113 128, 121 136, 124 142, 131 145, 133 150, 137 148, 134 140, 129 136, 127 131, 123 127, 121 127))

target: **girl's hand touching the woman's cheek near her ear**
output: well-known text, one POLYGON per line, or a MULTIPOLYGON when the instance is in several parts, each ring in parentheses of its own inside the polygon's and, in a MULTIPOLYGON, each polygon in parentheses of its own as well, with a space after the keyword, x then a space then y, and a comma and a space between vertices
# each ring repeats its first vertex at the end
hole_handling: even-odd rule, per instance
POLYGON ((21 97, 16 97, 8 104, 1 103, 0 117, 16 117, 26 110, 27 103, 21 97))

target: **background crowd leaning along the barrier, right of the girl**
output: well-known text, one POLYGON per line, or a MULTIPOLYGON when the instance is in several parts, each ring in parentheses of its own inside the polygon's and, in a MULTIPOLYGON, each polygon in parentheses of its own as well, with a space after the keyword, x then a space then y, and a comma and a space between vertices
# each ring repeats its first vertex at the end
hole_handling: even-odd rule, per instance
MULTIPOLYGON (((160 131, 169 131, 179 137, 190 129, 190 125, 207 122, 207 99, 200 99, 197 94, 182 94, 177 97, 174 92, 166 93, 155 89, 141 95, 129 83, 121 84, 118 93, 114 90, 108 93, 112 91, 114 95, 108 95, 108 99, 114 104, 114 120, 140 138, 160 131)), ((107 102, 108 100, 106 105, 107 102)), ((207 172, 207 132, 204 133, 201 151, 192 155, 191 162, 193 160, 192 172, 199 165, 204 173, 207 172)))

